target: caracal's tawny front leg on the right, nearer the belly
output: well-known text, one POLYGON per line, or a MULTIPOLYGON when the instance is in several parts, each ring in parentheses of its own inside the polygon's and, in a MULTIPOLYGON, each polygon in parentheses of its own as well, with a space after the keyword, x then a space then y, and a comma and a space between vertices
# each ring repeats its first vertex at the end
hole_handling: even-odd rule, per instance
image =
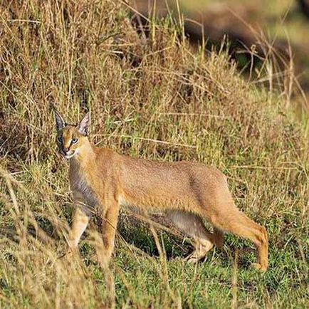
POLYGON ((108 263, 112 256, 112 249, 114 248, 115 232, 117 229, 117 221, 120 205, 118 201, 112 199, 106 203, 105 216, 103 218, 103 261, 108 263))

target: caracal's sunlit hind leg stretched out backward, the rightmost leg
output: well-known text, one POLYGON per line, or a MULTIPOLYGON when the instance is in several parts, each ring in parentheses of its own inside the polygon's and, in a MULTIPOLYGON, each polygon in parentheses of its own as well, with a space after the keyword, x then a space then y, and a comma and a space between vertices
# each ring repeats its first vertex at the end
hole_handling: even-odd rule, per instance
POLYGON ((258 263, 253 266, 266 271, 268 268, 268 236, 265 227, 256 224, 243 214, 236 206, 230 204, 216 215, 211 216, 211 224, 216 229, 228 231, 231 234, 241 236, 244 239, 252 241, 258 249, 258 263))

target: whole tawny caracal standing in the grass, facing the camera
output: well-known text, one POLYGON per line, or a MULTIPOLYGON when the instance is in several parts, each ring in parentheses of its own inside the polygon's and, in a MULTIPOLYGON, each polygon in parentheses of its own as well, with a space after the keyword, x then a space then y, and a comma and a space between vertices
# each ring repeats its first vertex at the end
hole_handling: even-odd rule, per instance
POLYGON ((203 258, 214 244, 222 246, 226 231, 252 241, 258 248, 255 266, 266 271, 266 229, 236 208, 226 177, 218 169, 197 162, 156 162, 119 155, 90 144, 86 136, 88 115, 77 127, 66 125, 58 112, 55 115, 59 150, 70 158, 70 188, 76 208, 70 250, 77 248, 93 209, 101 207, 105 216, 103 259, 108 262, 120 206, 134 206, 165 211, 179 229, 192 237, 195 248, 190 261, 203 258), (214 226, 213 234, 206 230, 202 219, 214 226))

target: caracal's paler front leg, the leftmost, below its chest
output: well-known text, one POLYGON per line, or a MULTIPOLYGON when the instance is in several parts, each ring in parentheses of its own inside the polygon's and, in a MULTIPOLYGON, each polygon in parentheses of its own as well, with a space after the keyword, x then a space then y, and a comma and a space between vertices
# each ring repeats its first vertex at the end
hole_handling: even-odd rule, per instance
POLYGON ((83 235, 88 226, 90 216, 83 210, 81 201, 74 201, 75 213, 73 215, 73 224, 68 235, 68 253, 77 251, 80 236, 83 235))

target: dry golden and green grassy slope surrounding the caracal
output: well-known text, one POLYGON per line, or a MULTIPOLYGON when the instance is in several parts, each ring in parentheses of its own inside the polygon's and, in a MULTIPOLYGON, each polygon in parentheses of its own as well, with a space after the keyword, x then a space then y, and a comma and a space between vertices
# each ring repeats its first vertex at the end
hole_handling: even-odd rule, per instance
POLYGON ((243 81, 224 53, 190 53, 169 21, 142 41, 110 1, 10 9, 0 30, 1 307, 308 306, 308 138, 286 93, 243 81), (180 258, 187 243, 159 233, 167 258, 158 256, 152 232, 125 214, 110 271, 95 263, 95 224, 81 258, 57 258, 71 197, 50 101, 71 122, 89 109, 98 145, 219 167, 239 207, 268 229, 269 271, 254 271, 253 247, 234 236, 194 266, 180 258))

